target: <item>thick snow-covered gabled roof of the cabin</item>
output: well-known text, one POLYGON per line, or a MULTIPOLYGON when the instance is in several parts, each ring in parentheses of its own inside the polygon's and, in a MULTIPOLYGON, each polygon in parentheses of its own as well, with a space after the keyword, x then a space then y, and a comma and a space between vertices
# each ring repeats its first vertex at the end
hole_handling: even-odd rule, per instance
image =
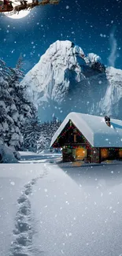
POLYGON ((111 126, 105 123, 105 117, 98 117, 84 113, 69 113, 61 126, 55 132, 50 147, 53 146, 57 136, 61 134, 65 125, 71 120, 79 132, 82 132, 93 147, 122 147, 122 121, 111 119, 111 126))

